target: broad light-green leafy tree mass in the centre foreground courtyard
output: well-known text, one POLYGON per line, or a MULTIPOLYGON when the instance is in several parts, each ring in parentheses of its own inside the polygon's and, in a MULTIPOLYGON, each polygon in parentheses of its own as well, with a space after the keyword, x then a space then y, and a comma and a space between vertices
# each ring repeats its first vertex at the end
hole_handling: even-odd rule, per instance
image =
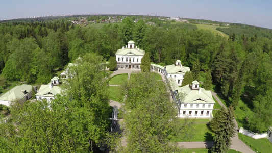
POLYGON ((187 133, 183 127, 191 130, 192 124, 177 122, 177 110, 170 102, 165 84, 154 77, 151 72, 134 73, 122 86, 122 93, 127 97, 124 126, 128 142, 123 152, 180 152, 177 144, 169 139, 189 135, 190 131, 187 133))

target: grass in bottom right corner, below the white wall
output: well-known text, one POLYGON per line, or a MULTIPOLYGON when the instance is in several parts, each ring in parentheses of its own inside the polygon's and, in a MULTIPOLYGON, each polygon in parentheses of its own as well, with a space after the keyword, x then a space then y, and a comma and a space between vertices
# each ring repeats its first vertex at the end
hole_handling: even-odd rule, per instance
POLYGON ((266 138, 253 139, 241 133, 238 133, 238 136, 240 140, 242 140, 255 152, 272 152, 272 143, 266 138))

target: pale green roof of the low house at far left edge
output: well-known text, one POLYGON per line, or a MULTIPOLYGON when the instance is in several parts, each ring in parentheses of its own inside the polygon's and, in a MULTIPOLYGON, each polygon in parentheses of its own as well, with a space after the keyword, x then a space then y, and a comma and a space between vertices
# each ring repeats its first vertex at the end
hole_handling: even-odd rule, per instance
POLYGON ((8 92, 6 92, 2 96, 0 96, 0 100, 17 101, 17 100, 20 100, 22 97, 24 97, 29 92, 31 92, 31 90, 32 90, 31 85, 23 84, 20 86, 15 86, 14 88, 10 89, 8 92), (27 93, 24 93, 22 91, 26 91, 27 93))

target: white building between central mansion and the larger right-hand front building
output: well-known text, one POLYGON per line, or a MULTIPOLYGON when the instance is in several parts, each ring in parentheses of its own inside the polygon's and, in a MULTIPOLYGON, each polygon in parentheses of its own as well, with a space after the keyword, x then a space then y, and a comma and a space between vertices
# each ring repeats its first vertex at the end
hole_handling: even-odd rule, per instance
POLYGON ((181 86, 187 71, 190 71, 190 67, 182 66, 180 60, 177 60, 175 64, 164 66, 167 78, 174 78, 178 86, 181 86))

